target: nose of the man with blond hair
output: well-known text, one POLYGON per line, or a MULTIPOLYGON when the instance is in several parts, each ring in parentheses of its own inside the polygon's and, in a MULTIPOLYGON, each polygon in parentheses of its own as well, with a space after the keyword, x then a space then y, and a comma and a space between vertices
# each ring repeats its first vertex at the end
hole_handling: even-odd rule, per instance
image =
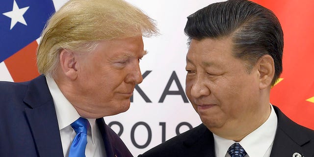
POLYGON ((139 84, 143 81, 141 69, 138 62, 134 63, 133 66, 131 66, 128 73, 129 74, 125 79, 125 82, 139 84))

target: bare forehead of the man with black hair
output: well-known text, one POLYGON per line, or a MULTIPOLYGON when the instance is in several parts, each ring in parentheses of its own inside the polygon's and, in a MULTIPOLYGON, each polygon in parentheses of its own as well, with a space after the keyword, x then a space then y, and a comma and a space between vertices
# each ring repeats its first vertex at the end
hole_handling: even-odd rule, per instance
POLYGON ((188 62, 212 64, 217 61, 235 59, 231 38, 202 40, 192 39, 186 55, 188 62))

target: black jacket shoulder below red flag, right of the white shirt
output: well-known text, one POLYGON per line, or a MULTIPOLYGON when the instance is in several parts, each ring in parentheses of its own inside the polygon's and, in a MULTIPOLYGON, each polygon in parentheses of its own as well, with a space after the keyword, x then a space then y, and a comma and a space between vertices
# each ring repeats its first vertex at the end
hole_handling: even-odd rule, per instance
POLYGON ((296 124, 278 107, 274 110, 278 126, 270 157, 292 157, 294 153, 314 157, 314 131, 296 124))

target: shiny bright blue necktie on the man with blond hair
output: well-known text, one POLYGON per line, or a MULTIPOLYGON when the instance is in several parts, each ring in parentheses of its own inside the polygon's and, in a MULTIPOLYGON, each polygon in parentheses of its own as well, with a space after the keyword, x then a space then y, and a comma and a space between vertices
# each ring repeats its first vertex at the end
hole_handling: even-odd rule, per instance
POLYGON ((71 127, 77 133, 70 147, 69 157, 85 157, 85 148, 87 144, 88 120, 79 117, 71 124, 71 127))

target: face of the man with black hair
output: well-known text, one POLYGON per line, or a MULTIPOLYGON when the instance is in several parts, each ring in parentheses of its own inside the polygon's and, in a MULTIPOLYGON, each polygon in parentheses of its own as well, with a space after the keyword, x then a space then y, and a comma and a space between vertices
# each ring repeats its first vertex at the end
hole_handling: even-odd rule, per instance
POLYGON ((186 55, 186 95, 213 132, 250 125, 262 110, 259 69, 249 73, 232 46, 231 38, 192 39, 186 55))

